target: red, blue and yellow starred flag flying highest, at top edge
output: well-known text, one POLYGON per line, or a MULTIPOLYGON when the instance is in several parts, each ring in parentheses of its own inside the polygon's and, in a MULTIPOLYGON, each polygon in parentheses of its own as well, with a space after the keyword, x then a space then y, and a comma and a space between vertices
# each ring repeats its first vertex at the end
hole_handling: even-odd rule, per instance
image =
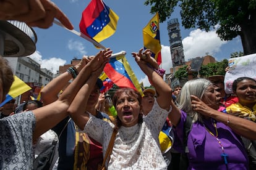
POLYGON ((83 10, 79 24, 81 33, 100 42, 116 31, 119 17, 102 0, 92 0, 83 10))

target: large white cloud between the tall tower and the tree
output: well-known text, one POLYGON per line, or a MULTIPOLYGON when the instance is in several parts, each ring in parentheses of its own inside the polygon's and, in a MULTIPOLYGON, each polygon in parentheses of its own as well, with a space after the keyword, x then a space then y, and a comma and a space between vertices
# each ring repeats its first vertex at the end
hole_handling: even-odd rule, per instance
POLYGON ((226 43, 227 41, 221 41, 215 30, 208 32, 199 29, 193 30, 182 41, 185 60, 203 57, 207 53, 215 56, 217 52, 220 52, 221 46, 226 43))

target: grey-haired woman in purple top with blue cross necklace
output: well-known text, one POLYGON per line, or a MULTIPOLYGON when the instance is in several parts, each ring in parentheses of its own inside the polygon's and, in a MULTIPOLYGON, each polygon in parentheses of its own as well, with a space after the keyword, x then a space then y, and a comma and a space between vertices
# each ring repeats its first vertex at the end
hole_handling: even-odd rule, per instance
POLYGON ((173 107, 169 119, 175 126, 173 147, 183 153, 186 150, 188 169, 248 169, 239 135, 255 139, 256 124, 217 111, 220 93, 207 79, 188 81, 180 95, 179 108, 173 107), (186 136, 189 119, 192 124, 186 136))

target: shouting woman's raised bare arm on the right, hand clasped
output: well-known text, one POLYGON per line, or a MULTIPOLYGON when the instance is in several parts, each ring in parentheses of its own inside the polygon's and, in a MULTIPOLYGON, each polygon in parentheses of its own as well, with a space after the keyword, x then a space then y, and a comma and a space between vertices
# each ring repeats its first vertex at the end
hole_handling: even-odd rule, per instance
POLYGON ((160 107, 169 110, 172 103, 172 89, 164 82, 163 78, 161 78, 161 76, 153 70, 153 68, 156 67, 156 62, 154 61, 155 59, 150 56, 151 51, 149 49, 145 50, 144 52, 142 51, 143 49, 140 49, 139 53, 132 52, 132 55, 135 57, 135 61, 141 70, 148 76, 148 79, 150 79, 152 85, 156 89, 156 92, 158 92, 158 97, 156 100, 160 107), (147 58, 142 59, 143 55, 147 55, 147 58))

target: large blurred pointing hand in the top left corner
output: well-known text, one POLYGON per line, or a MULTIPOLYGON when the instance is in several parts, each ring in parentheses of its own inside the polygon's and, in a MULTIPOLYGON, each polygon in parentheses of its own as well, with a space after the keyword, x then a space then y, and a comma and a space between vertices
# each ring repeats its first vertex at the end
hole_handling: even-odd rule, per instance
POLYGON ((0 20, 18 20, 29 26, 49 28, 54 18, 69 30, 74 29, 67 16, 49 0, 1 0, 0 20))

